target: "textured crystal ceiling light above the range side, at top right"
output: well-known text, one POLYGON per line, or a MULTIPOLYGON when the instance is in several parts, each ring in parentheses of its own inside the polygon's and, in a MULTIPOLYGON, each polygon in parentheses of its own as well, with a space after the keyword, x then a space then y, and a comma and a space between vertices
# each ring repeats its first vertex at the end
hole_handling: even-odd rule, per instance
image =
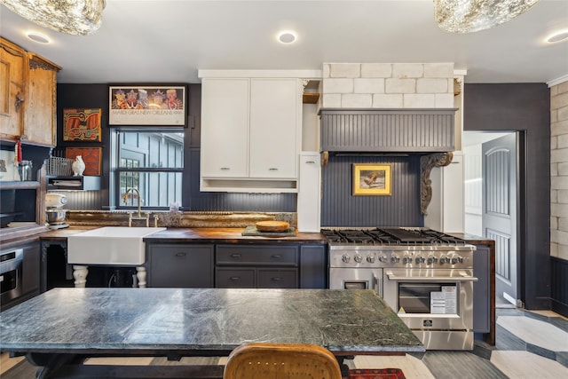
POLYGON ((450 33, 493 28, 531 9, 539 0, 434 0, 438 27, 450 33))

